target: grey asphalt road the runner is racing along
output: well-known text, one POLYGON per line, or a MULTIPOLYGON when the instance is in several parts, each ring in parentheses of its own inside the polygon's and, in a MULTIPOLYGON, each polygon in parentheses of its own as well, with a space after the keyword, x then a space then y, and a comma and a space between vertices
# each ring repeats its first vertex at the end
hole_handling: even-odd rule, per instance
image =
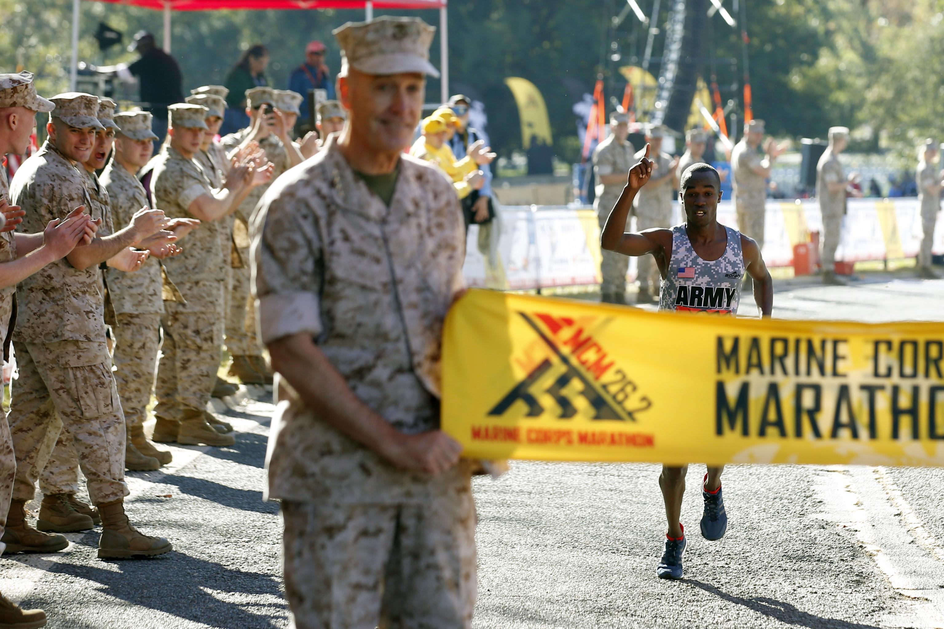
MULTIPOLYGON (((944 281, 779 283, 775 315, 942 321, 944 281)), ((132 521, 177 552, 104 562, 97 533, 74 534, 59 554, 0 558, 0 590, 61 629, 288 626, 278 508, 261 501, 273 407, 249 393, 261 399, 223 411, 235 446, 174 448, 169 469, 129 473, 132 521)), ((474 626, 944 627, 944 470, 732 466, 717 542, 698 532, 702 473, 689 472, 682 582, 655 577, 657 466, 515 462, 477 478, 474 626)))

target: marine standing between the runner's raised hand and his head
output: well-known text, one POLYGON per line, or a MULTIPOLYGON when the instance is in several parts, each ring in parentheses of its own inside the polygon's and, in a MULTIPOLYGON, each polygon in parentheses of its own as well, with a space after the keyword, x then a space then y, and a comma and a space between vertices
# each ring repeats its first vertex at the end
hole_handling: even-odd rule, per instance
MULTIPOLYGON (((646 141, 651 146, 652 176, 632 202, 632 211, 636 214, 636 231, 652 227, 669 227, 672 222, 672 190, 674 190, 675 171, 678 161, 662 152, 662 141, 666 137, 666 127, 650 126, 646 132, 646 141)), ((646 157, 643 147, 633 156, 632 163, 646 157)), ((632 167, 632 164, 630 164, 632 167)), ((659 270, 651 256, 640 257, 637 261, 639 296, 637 303, 650 304, 656 301, 659 290, 659 270)))

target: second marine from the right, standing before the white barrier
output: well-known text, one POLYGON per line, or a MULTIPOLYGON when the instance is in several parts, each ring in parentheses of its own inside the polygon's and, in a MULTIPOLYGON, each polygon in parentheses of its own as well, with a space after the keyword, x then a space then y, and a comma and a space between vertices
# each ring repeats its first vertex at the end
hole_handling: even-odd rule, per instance
POLYGON ((817 199, 822 214, 823 236, 820 241, 820 260, 823 282, 840 283, 835 276, 835 250, 842 233, 842 217, 846 215, 846 171, 839 154, 849 141, 849 128, 834 126, 829 130, 829 146, 817 164, 817 199))

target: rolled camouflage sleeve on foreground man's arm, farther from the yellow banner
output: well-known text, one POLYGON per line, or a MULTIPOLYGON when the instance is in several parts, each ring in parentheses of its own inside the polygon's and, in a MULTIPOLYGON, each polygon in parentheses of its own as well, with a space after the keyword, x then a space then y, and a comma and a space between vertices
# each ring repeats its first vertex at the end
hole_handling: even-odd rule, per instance
POLYGON ((291 194, 263 198, 253 222, 253 290, 260 336, 271 343, 299 333, 321 334, 321 239, 312 214, 291 194))

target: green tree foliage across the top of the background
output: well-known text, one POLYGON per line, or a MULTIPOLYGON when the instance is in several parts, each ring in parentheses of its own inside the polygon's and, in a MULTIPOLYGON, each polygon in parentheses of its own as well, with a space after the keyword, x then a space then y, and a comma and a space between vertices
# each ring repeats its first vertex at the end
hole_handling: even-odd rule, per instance
MULTIPOLYGON (((880 140, 912 154, 919 138, 933 136, 944 119, 944 38, 938 0, 740 0, 747 14, 748 56, 754 115, 782 136, 823 137, 829 126, 864 127, 864 146, 880 140)), ((646 11, 652 0, 641 0, 646 11)), ((664 26, 661 3, 656 25, 664 26)), ((724 4, 739 18, 732 0, 724 4)), ((521 145, 514 100, 506 76, 528 78, 542 91, 555 138, 565 160, 579 159, 580 143, 572 112, 600 74, 607 95, 621 98, 624 82, 617 67, 638 64, 646 29, 630 14, 614 28, 611 18, 623 0, 466 0, 449 6, 450 77, 486 104, 496 148, 507 154, 521 145)), ((418 15, 433 25, 431 11, 418 15)), ((38 75, 41 93, 68 89, 72 3, 66 0, 0 0, 0 67, 38 75)), ((185 89, 221 83, 242 50, 265 43, 272 62, 270 84, 285 87, 301 62, 306 42, 329 45, 332 71, 340 55, 330 31, 362 13, 349 10, 208 11, 174 14, 172 52, 180 62, 185 89)), ((95 64, 136 58, 125 45, 139 29, 161 39, 160 12, 98 2, 81 3, 79 58, 95 64), (125 43, 106 53, 93 33, 99 22, 122 31, 125 43)), ((725 101, 740 100, 744 67, 740 25, 705 16, 709 38, 706 73, 714 69, 725 101)), ((664 29, 663 29, 664 30, 664 29)), ((653 47, 650 70, 658 74, 662 36, 653 47)), ((431 57, 439 63, 439 43, 431 57)), ((430 80, 430 100, 439 84, 430 80)))

